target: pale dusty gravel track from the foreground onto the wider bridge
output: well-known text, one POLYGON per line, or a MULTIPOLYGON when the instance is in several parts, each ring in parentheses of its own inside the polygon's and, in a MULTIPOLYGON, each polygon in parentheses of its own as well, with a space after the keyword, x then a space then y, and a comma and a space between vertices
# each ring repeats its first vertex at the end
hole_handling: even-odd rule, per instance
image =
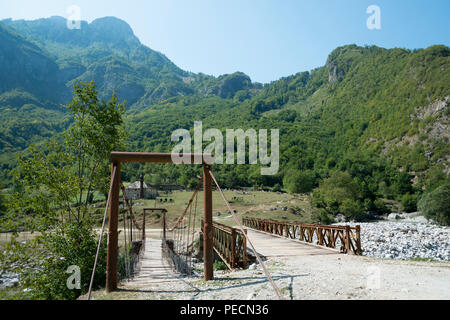
MULTIPOLYGON (((257 250, 266 256, 265 264, 286 299, 450 299, 448 262, 344 255, 259 232, 249 231, 249 235, 257 250)), ((148 263, 149 269, 160 259, 157 252, 152 253, 157 258, 148 263)), ((259 266, 233 272, 216 271, 215 280, 209 282, 201 277, 180 278, 173 274, 169 277, 171 281, 153 282, 138 277, 123 283, 121 291, 109 295, 97 292, 94 298, 276 298, 259 266)))

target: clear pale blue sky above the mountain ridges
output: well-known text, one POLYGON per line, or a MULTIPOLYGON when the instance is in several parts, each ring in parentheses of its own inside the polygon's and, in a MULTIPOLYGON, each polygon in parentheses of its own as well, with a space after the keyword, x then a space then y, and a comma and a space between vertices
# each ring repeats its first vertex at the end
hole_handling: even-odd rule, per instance
POLYGON ((14 0, 0 3, 0 19, 67 18, 71 5, 88 22, 125 20, 182 69, 259 82, 322 66, 345 44, 450 45, 448 0, 14 0), (380 7, 381 30, 366 26, 370 5, 380 7))

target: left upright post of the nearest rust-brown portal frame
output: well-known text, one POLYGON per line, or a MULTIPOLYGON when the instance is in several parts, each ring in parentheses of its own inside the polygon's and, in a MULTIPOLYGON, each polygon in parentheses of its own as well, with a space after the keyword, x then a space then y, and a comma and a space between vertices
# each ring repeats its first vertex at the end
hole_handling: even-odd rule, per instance
POLYGON ((113 163, 111 173, 114 172, 111 203, 109 206, 109 227, 108 227, 108 251, 106 262, 106 292, 117 289, 117 255, 118 255, 118 233, 119 223, 119 192, 120 192, 120 162, 113 163))

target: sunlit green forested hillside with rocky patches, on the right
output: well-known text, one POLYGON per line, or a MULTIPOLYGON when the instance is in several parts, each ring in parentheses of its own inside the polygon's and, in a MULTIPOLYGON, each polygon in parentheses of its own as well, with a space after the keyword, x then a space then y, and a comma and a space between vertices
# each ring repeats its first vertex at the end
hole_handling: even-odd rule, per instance
MULTIPOLYGON (((176 128, 279 128, 281 172, 218 166, 229 187, 275 184, 306 172, 312 187, 348 171, 367 193, 387 197, 447 180, 450 171, 450 50, 349 45, 326 65, 274 81, 252 96, 175 97, 128 117, 129 150, 170 151, 176 128), (409 173, 409 174, 408 174, 409 173), (398 181, 410 186, 396 189, 398 181), (409 182, 408 182, 409 181, 409 182), (405 191, 407 190, 407 191, 405 191)), ((131 171, 134 176, 136 171, 131 171)))

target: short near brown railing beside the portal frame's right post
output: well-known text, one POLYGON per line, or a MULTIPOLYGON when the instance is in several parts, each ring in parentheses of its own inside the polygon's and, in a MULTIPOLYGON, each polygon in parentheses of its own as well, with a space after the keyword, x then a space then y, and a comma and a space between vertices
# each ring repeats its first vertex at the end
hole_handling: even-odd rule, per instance
POLYGON ((213 222, 213 235, 213 249, 228 269, 247 267, 247 239, 241 230, 213 222))

